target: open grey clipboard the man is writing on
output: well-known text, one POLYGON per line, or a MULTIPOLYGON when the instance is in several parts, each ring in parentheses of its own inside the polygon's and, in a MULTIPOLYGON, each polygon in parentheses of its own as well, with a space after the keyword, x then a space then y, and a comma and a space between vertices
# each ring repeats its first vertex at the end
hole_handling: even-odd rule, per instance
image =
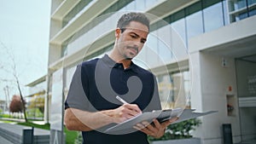
POLYGON ((143 121, 148 121, 151 123, 154 118, 158 119, 160 123, 165 122, 168 119, 178 117, 177 121, 172 124, 182 122, 184 120, 188 120, 191 118, 201 117, 207 114, 211 114, 217 111, 210 111, 210 112, 194 112, 195 109, 167 109, 167 110, 157 110, 153 112, 143 112, 133 118, 130 118, 123 123, 113 125, 112 127, 108 128, 104 131, 104 133, 108 133, 111 135, 121 135, 121 134, 128 134, 131 132, 137 131, 133 128, 134 125, 141 123, 143 121))

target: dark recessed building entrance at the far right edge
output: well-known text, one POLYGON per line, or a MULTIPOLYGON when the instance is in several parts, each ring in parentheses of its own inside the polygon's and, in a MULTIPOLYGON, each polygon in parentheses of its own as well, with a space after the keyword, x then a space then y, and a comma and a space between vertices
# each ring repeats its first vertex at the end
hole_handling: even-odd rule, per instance
POLYGON ((256 143, 256 54, 236 59, 241 141, 256 143))

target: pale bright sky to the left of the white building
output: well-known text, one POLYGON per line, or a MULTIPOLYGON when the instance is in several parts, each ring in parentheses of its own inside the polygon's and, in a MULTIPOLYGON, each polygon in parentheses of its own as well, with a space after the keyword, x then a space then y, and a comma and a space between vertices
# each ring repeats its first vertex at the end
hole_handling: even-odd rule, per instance
POLYGON ((47 74, 50 6, 50 0, 0 0, 0 100, 6 85, 10 97, 18 94, 12 66, 23 95, 26 84, 47 74))

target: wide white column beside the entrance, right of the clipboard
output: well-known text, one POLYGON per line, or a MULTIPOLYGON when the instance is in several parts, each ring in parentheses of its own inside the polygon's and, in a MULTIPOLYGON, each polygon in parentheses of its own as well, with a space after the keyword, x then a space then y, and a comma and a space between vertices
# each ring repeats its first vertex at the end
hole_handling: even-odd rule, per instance
POLYGON ((236 92, 235 60, 211 53, 191 53, 189 67, 192 76, 191 108, 199 112, 218 111, 201 118, 202 124, 194 135, 202 144, 222 143, 222 124, 231 124, 233 142, 241 140, 236 92), (226 62, 225 65, 223 62, 226 62), (231 115, 227 103, 231 96, 235 108, 231 115))

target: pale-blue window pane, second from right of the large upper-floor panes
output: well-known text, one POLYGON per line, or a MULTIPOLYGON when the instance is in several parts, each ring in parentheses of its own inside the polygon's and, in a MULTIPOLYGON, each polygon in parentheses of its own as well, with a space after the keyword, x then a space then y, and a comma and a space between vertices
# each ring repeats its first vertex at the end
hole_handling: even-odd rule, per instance
POLYGON ((203 33, 202 13, 190 14, 186 17, 188 39, 203 33))

